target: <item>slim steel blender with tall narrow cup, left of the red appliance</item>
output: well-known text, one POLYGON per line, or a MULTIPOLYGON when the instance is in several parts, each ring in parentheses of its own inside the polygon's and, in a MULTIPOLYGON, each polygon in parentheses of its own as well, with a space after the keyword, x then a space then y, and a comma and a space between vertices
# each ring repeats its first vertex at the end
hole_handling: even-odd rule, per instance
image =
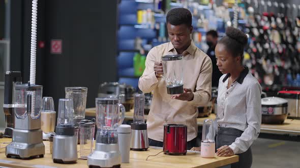
POLYGON ((131 150, 147 150, 149 148, 147 124, 144 119, 145 95, 134 95, 134 114, 131 123, 131 150))

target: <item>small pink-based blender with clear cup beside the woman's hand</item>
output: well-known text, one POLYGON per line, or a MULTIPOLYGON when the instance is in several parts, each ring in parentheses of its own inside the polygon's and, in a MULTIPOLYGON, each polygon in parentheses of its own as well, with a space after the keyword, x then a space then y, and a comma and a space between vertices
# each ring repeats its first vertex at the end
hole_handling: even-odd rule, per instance
POLYGON ((216 123, 213 119, 205 119, 202 128, 201 157, 215 157, 216 123))

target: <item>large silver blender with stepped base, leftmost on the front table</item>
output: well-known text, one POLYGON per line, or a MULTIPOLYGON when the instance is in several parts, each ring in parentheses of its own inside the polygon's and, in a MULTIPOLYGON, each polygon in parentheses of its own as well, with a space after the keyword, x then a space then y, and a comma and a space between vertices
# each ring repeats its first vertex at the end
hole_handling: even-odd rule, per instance
POLYGON ((15 129, 12 143, 6 146, 7 157, 22 159, 43 157, 45 145, 43 144, 41 130, 41 102, 42 86, 31 85, 30 82, 14 87, 15 129))

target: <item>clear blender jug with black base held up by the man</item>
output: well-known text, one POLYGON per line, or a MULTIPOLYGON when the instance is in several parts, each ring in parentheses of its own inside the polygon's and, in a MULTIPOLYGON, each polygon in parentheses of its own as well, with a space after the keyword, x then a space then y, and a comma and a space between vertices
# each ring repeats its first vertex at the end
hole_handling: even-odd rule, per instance
POLYGON ((166 81, 167 93, 170 95, 184 92, 183 55, 167 55, 162 57, 163 78, 166 81))

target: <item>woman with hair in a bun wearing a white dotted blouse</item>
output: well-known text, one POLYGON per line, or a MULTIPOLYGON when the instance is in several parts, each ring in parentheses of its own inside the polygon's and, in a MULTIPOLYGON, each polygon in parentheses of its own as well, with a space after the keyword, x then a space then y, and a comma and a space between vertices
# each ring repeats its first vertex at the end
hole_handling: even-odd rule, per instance
POLYGON ((215 49, 217 66, 223 73, 217 99, 217 155, 239 155, 231 167, 251 167, 251 145, 261 125, 261 87, 242 65, 247 41, 244 32, 228 27, 215 49))

